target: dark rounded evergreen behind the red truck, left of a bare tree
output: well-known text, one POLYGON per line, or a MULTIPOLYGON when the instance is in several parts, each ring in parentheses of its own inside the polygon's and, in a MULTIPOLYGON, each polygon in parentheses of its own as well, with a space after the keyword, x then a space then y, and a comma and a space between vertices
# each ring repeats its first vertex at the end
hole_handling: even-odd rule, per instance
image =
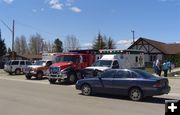
POLYGON ((55 39, 54 46, 53 46, 53 51, 54 52, 63 52, 62 46, 63 46, 62 41, 59 38, 55 39))

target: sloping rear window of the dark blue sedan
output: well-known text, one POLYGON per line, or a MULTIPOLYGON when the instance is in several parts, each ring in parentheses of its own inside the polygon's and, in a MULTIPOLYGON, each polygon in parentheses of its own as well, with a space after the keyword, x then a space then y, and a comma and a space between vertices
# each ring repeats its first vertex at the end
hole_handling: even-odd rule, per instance
POLYGON ((138 73, 141 77, 145 78, 145 79, 153 79, 155 78, 154 75, 144 71, 144 70, 134 70, 136 73, 138 73))

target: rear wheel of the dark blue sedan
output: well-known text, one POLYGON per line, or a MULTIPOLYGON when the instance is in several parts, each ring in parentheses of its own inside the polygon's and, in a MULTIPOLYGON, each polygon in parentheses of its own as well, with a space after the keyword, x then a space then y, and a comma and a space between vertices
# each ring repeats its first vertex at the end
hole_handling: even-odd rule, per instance
POLYGON ((142 99, 142 91, 139 88, 132 88, 129 91, 129 98, 133 101, 139 101, 142 99))

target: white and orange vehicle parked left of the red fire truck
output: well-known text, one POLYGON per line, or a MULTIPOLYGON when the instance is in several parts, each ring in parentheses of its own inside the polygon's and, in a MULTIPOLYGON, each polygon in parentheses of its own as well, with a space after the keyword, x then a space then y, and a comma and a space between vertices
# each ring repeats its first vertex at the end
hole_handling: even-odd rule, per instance
POLYGON ((49 60, 36 61, 33 65, 24 68, 26 78, 31 79, 32 77, 36 77, 42 79, 43 76, 48 75, 48 68, 52 63, 53 62, 49 60))

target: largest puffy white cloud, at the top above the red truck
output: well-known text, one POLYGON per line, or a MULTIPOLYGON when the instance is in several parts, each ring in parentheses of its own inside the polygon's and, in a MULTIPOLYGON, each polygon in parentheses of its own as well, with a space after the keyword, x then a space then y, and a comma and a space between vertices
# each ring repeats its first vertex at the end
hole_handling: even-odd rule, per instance
POLYGON ((50 0, 49 5, 51 6, 51 8, 57 10, 62 10, 64 6, 59 0, 50 0))

